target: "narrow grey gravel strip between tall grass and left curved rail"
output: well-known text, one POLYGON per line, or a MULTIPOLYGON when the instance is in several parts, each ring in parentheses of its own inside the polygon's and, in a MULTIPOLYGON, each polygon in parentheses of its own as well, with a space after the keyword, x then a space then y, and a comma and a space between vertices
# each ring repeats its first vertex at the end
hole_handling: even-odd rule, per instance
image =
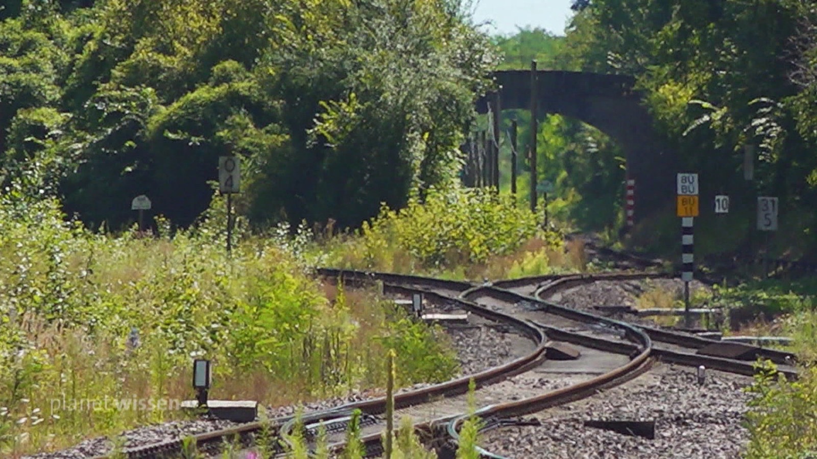
MULTIPOLYGON (((512 341, 509 334, 492 327, 446 328, 451 342, 457 350, 462 372, 458 376, 480 372, 514 359, 512 341)), ((399 392, 419 389, 427 384, 417 384, 399 392)), ((304 412, 326 410, 346 403, 352 403, 375 396, 371 391, 354 392, 342 398, 325 399, 304 404, 304 412)), ((294 414, 296 405, 267 408, 270 418, 285 417, 294 414)), ((194 434, 202 434, 238 426, 230 421, 174 421, 156 426, 145 426, 123 433, 124 448, 160 443, 180 439, 194 434)), ((87 439, 82 443, 59 452, 40 453, 29 456, 30 459, 81 459, 94 457, 109 452, 112 444, 109 439, 87 439)))

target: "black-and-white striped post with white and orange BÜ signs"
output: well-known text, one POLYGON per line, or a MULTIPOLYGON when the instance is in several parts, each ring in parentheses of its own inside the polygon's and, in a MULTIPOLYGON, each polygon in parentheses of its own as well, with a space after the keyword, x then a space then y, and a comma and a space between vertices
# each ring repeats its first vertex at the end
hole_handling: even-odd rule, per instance
POLYGON ((684 322, 690 328, 690 282, 694 272, 694 217, 699 215, 698 174, 677 176, 677 215, 681 217, 681 280, 684 281, 684 322))

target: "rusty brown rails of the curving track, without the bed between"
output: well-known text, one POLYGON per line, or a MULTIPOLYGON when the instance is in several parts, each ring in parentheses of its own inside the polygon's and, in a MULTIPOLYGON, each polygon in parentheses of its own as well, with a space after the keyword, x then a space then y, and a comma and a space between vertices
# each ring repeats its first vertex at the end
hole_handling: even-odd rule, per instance
MULTIPOLYGON (((545 290, 552 291, 553 289, 573 287, 576 285, 581 285, 583 283, 592 283, 597 280, 632 280, 632 279, 666 278, 669 277, 668 274, 619 272, 605 274, 576 274, 566 276, 565 275, 536 276, 533 278, 511 279, 509 281, 501 281, 498 283, 494 283, 493 285, 480 286, 475 286, 473 283, 449 281, 443 279, 431 279, 421 276, 365 272, 357 270, 319 269, 316 270, 316 274, 327 279, 342 279, 344 283, 349 283, 351 285, 371 285, 375 281, 380 281, 383 283, 384 292, 408 293, 422 291, 426 293, 427 296, 435 298, 435 300, 437 301, 456 302, 463 309, 469 310, 474 314, 481 315, 488 319, 509 323, 511 324, 511 326, 517 328, 518 330, 520 330, 520 332, 525 334, 525 336, 529 336, 531 339, 538 343, 538 346, 536 350, 534 350, 534 352, 525 355, 520 359, 516 359, 510 363, 506 363, 502 366, 490 368, 488 370, 484 370, 483 372, 479 372, 474 375, 461 377, 458 378, 457 380, 447 381, 420 390, 413 390, 410 392, 405 392, 403 394, 398 394, 395 396, 395 405, 398 407, 404 407, 417 403, 426 403, 429 399, 439 397, 440 395, 453 395, 465 393, 467 391, 467 385, 469 381, 471 381, 471 379, 474 379, 477 386, 480 387, 489 384, 492 381, 504 379, 519 372, 526 371, 526 369, 535 366, 536 364, 538 364, 540 359, 542 359, 544 346, 547 344, 546 343, 547 336, 546 334, 542 333, 542 330, 547 331, 547 334, 551 336, 555 337, 558 336, 560 340, 564 341, 574 340, 572 342, 587 345, 588 347, 599 348, 598 346, 604 346, 603 347, 604 350, 609 350, 610 352, 619 354, 631 355, 632 360, 629 363, 627 363, 627 365, 617 368, 612 372, 606 373, 605 375, 600 375, 600 377, 593 378, 592 380, 583 381, 583 383, 580 383, 578 385, 574 385, 561 390, 556 390, 547 394, 542 394, 533 399, 496 405, 490 407, 489 409, 484 410, 483 412, 481 412, 482 414, 484 414, 485 416, 495 415, 497 413, 506 414, 513 413, 518 415, 527 412, 540 411, 541 409, 553 406, 558 403, 565 403, 566 401, 569 401, 569 399, 571 398, 575 399, 586 397, 590 394, 594 394, 597 390, 600 390, 603 387, 607 387, 609 385, 614 384, 620 384, 621 382, 632 379, 632 377, 636 377, 637 375, 641 374, 641 372, 646 371, 653 361, 652 359, 653 356, 674 363, 690 365, 697 365, 703 363, 707 364, 708 367, 710 368, 722 369, 723 371, 739 372, 741 374, 751 374, 747 373, 748 363, 746 362, 738 362, 730 359, 718 359, 715 357, 708 357, 698 354, 685 354, 670 350, 656 350, 652 347, 652 340, 656 341, 673 340, 667 342, 673 342, 678 345, 684 345, 692 348, 696 348, 696 346, 703 347, 703 345, 717 343, 719 341, 708 340, 705 338, 701 338, 699 336, 690 336, 676 332, 667 332, 666 330, 660 330, 658 328, 645 328, 642 326, 633 326, 628 323, 619 322, 614 319, 601 317, 584 311, 565 308, 564 306, 555 305, 538 298, 538 296, 545 290), (538 285, 536 292, 534 293, 535 296, 520 295, 516 292, 511 292, 506 288, 506 287, 508 288, 520 287, 523 285, 530 284, 538 285), (406 287, 407 285, 411 287, 406 287), (537 325, 535 323, 529 323, 524 320, 516 319, 508 314, 502 314, 501 312, 498 311, 489 310, 488 308, 484 308, 483 306, 477 305, 471 301, 467 301, 467 299, 465 298, 469 294, 473 294, 475 292, 480 291, 490 292, 493 296, 498 296, 499 298, 506 299, 507 301, 533 301, 540 305, 543 311, 551 314, 559 314, 568 319, 574 319, 581 322, 607 323, 615 328, 623 329, 626 333, 626 336, 631 341, 635 341, 636 343, 639 344, 636 345, 621 342, 614 343, 613 341, 605 342, 605 340, 598 337, 571 334, 571 332, 558 330, 556 328, 551 328, 546 325, 542 324, 537 325), (459 297, 450 296, 448 294, 453 292, 459 292, 459 297)), ((764 354, 765 356, 768 356, 768 358, 774 360, 775 362, 785 360, 787 356, 791 358, 791 354, 788 353, 783 353, 775 350, 763 351, 765 353, 764 354)), ((784 372, 784 374, 786 374, 787 377, 792 377, 792 375, 789 373, 791 372, 784 372)), ((326 410, 324 412, 311 413, 310 417, 315 419, 330 420, 333 417, 342 416, 342 414, 349 412, 351 409, 355 408, 358 408, 362 412, 368 414, 382 413, 385 411, 385 406, 386 406, 385 398, 372 399, 363 402, 348 403, 342 407, 333 408, 330 410, 326 410)), ((480 414, 480 416, 482 416, 482 414, 480 414)), ((270 435, 280 436, 282 434, 281 431, 282 426, 291 424, 291 421, 292 417, 276 418, 269 421, 269 423, 266 425, 266 429, 269 431, 270 435)), ((453 420, 441 419, 435 421, 435 424, 438 421, 453 421, 453 420)), ((457 425, 454 424, 455 431, 456 426, 457 425)), ((231 429, 219 430, 216 432, 209 432, 206 434, 199 434, 194 437, 194 440, 199 452, 202 451, 211 452, 216 451, 217 448, 221 448, 221 445, 223 444, 225 439, 239 439, 239 442, 242 444, 251 443, 253 435, 261 431, 263 427, 264 426, 261 424, 261 422, 251 422, 231 429)), ((430 425, 416 426, 417 429, 426 430, 431 429, 431 427, 432 426, 430 425)), ((284 432, 283 434, 286 433, 284 432)), ((380 441, 379 434, 369 435, 367 438, 364 438, 364 442, 366 442, 368 445, 374 445, 375 443, 379 444, 379 441, 380 441)), ((342 448, 342 444, 333 445, 333 448, 336 450, 340 449, 342 448)), ((126 455, 127 457, 134 458, 176 457, 178 453, 181 452, 181 449, 182 440, 178 439, 163 443, 145 445, 144 447, 141 448, 132 448, 126 452, 126 455)))

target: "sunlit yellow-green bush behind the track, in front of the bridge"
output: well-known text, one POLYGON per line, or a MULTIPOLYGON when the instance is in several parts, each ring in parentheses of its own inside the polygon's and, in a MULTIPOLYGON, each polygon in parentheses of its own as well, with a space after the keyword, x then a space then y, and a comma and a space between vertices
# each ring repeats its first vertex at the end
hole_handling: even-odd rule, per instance
POLYGON ((560 247, 560 235, 546 234, 539 225, 538 216, 516 207, 509 195, 497 196, 488 189, 431 189, 424 202, 412 198, 400 211, 382 207, 355 236, 330 242, 327 262, 402 273, 463 270, 520 255, 520 248, 536 237, 548 247, 560 247))

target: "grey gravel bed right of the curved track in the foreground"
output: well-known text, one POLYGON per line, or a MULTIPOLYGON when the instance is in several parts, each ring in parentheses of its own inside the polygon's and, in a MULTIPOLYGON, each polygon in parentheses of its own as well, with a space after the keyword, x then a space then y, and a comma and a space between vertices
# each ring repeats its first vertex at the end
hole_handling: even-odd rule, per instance
POLYGON ((699 387, 691 368, 660 367, 591 399, 539 415, 542 426, 490 430, 480 444, 504 457, 739 457, 752 380, 709 371, 699 387), (583 421, 655 421, 655 439, 583 426, 583 421))

